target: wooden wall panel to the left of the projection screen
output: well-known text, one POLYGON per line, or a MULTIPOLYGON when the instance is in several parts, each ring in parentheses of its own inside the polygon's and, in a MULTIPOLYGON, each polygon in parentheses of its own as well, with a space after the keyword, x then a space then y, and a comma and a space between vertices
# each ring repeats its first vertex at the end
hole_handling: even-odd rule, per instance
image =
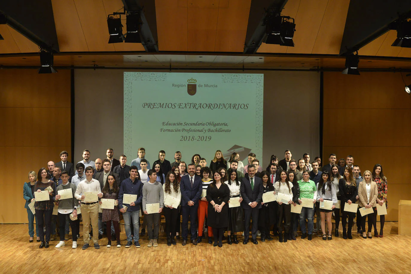
MULTIPOLYGON (((0 223, 27 223, 23 183, 28 172, 71 151, 70 71, 0 70, 0 166, 3 178, 0 223)), ((69 155, 69 158, 72 156, 69 155)))

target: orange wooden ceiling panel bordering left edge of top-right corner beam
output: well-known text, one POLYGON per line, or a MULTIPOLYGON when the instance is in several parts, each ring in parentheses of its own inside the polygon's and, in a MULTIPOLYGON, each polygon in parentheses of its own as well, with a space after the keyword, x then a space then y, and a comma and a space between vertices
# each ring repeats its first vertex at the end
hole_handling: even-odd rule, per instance
POLYGON ((339 54, 349 4, 350 0, 328 1, 312 53, 339 54))

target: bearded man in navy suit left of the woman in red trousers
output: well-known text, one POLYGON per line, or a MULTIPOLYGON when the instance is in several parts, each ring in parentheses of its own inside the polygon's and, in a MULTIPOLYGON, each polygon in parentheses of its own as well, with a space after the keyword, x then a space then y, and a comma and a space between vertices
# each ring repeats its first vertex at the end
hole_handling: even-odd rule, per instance
POLYGON ((191 242, 197 245, 197 211, 203 184, 201 177, 195 175, 195 171, 196 166, 194 163, 190 163, 188 165, 188 175, 182 176, 180 182, 183 246, 187 244, 188 220, 190 220, 191 242))

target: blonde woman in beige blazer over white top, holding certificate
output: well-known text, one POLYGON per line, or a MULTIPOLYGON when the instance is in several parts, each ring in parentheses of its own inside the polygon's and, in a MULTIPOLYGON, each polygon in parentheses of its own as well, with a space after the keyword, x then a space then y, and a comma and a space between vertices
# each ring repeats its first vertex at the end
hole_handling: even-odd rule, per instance
POLYGON ((376 199, 378 196, 378 187, 376 182, 372 181, 372 173, 369 170, 365 170, 363 174, 363 182, 360 182, 358 186, 358 203, 360 207, 370 208, 372 207, 374 213, 370 213, 361 217, 361 228, 363 229, 363 238, 367 239, 367 234, 365 233, 365 218, 368 216, 368 238, 372 238, 371 228, 376 218, 376 199))

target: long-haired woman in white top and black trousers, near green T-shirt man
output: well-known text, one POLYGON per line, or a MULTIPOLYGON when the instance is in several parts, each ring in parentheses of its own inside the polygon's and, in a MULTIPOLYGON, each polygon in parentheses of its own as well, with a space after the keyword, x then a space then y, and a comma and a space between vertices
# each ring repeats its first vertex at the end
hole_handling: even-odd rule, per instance
POLYGON ((278 241, 283 242, 282 231, 284 230, 284 242, 287 242, 287 235, 290 233, 291 225, 291 206, 293 202, 293 191, 291 190, 293 183, 289 182, 286 171, 282 170, 280 173, 280 180, 275 182, 275 193, 283 193, 290 197, 287 203, 278 203, 278 241), (284 229, 282 228, 282 222, 284 219, 284 229))

